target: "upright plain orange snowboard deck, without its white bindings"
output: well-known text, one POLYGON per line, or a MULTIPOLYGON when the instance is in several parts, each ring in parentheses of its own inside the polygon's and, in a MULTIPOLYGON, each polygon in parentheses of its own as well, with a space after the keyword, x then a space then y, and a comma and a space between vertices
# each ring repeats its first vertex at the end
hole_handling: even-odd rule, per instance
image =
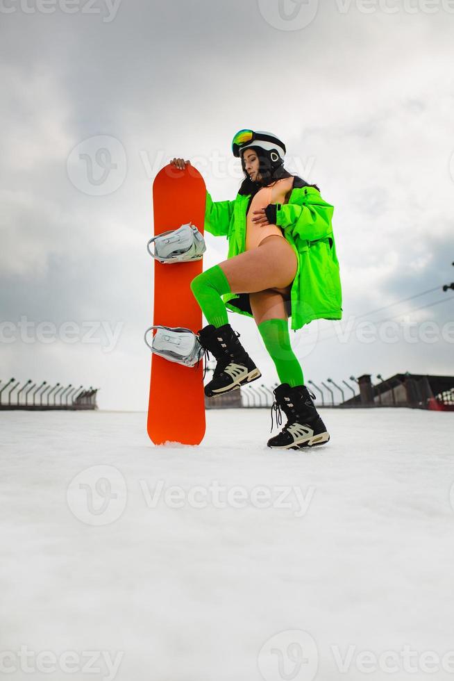
MULTIPOLYGON (((203 177, 188 165, 166 165, 153 182, 154 236, 192 222, 203 234, 206 189, 203 177)), ((190 284, 203 271, 203 260, 163 264, 154 261, 153 325, 185 327, 197 333, 202 311, 190 284)), ((155 445, 199 445, 205 434, 203 361, 187 367, 151 354, 148 434, 155 445)))

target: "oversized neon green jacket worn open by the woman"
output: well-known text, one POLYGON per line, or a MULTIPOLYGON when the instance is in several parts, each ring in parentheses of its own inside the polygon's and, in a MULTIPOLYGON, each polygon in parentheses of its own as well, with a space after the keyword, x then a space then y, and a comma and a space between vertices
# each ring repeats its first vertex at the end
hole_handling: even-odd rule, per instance
MULTIPOLYGON (((237 194, 234 201, 216 201, 207 192, 205 229, 228 239, 228 258, 244 252, 246 210, 251 195, 237 194)), ((331 218, 334 207, 320 192, 295 177, 288 204, 277 204, 276 224, 283 229, 298 258, 290 293, 292 326, 301 329, 314 319, 342 318, 342 289, 331 218)), ((248 293, 226 293, 226 307, 253 317, 248 293)))

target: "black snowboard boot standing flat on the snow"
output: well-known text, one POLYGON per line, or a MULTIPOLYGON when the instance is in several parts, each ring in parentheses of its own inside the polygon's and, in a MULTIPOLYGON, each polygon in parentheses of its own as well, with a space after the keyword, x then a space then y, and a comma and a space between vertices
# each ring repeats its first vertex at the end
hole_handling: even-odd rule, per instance
POLYGON ((274 391, 276 402, 271 407, 271 430, 273 429, 273 412, 276 411, 277 425, 282 423, 283 409, 287 423, 280 433, 268 441, 268 446, 281 450, 314 447, 328 442, 330 436, 326 426, 315 409, 315 395, 306 386, 290 388, 282 383, 274 391))

